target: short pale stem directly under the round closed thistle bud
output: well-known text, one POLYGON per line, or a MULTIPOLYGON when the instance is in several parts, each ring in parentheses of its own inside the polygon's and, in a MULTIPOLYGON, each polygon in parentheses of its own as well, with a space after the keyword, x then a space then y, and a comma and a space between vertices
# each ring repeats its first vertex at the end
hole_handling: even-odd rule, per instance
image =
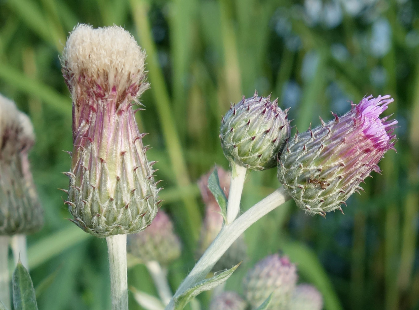
POLYGON ((230 224, 236 218, 240 211, 241 192, 243 191, 244 178, 247 169, 237 163, 231 167, 230 191, 228 193, 227 203, 227 223, 230 224))

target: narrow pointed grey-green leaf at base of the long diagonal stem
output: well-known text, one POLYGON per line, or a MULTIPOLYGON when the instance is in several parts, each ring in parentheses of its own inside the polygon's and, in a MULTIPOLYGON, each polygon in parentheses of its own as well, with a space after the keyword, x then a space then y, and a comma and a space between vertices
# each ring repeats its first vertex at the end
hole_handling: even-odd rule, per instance
POLYGON ((188 304, 188 302, 190 302, 192 298, 194 298, 198 294, 208 291, 210 289, 213 289, 214 287, 217 287, 218 285, 227 281, 227 279, 230 278, 230 276, 233 274, 233 272, 237 269, 237 267, 240 264, 241 262, 233 266, 233 268, 230 268, 225 271, 219 271, 219 273, 215 273, 212 278, 204 279, 198 282, 194 287, 191 287, 180 296, 175 297, 174 298, 175 309, 176 310, 183 309, 188 304))

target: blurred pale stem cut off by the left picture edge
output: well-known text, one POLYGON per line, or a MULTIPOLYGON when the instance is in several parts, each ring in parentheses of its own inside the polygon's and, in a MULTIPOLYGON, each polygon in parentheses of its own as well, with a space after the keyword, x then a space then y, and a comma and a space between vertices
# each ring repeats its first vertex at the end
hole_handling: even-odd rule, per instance
POLYGON ((9 237, 0 236, 0 300, 11 309, 10 278, 9 278, 9 237))

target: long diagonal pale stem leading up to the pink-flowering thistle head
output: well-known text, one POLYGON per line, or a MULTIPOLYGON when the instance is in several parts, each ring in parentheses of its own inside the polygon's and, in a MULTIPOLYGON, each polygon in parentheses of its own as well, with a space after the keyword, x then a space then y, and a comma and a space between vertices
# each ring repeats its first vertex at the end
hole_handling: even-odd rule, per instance
MULTIPOLYGON (((262 216, 272 211, 274 208, 282 205, 291 197, 287 191, 280 187, 272 194, 268 195, 253 207, 248 209, 245 213, 239 216, 235 221, 230 224, 224 225, 218 233, 215 240, 209 245, 208 249, 199 259, 195 267, 191 270, 188 276, 179 286, 174 297, 181 296, 186 290, 193 287, 199 281, 205 279, 211 268, 217 263, 220 257, 230 247, 230 245, 241 235, 243 232, 255 223, 262 216)), ((166 307, 166 310, 175 309, 173 298, 166 307)))

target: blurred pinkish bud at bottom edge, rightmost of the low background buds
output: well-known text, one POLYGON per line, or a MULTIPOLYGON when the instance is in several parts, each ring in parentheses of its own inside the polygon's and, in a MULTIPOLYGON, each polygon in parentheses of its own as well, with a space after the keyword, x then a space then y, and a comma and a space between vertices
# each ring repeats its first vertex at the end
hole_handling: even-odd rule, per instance
POLYGON ((300 284, 292 294, 287 310, 321 310, 323 297, 320 292, 310 284, 300 284))

